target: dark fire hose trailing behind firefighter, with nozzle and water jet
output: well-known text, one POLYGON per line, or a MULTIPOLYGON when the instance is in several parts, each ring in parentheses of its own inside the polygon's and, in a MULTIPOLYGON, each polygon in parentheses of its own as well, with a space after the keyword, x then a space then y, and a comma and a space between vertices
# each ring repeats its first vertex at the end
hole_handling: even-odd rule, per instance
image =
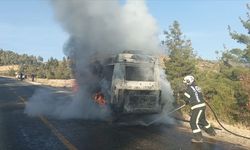
MULTIPOLYGON (((208 102, 205 101, 205 103, 207 104, 207 106, 208 106, 208 107, 210 108, 210 110, 212 111, 212 113, 213 113, 213 115, 214 115, 216 121, 218 122, 218 124, 219 124, 225 131, 227 131, 228 133, 231 133, 231 134, 233 134, 233 135, 235 135, 235 136, 238 136, 238 137, 242 137, 242 138, 245 138, 245 139, 250 139, 250 137, 247 137, 247 136, 243 136, 243 135, 234 133, 234 132, 228 130, 227 128, 225 128, 225 127, 221 124, 221 122, 220 122, 220 120, 218 119, 216 113, 214 112, 214 110, 212 109, 212 107, 208 104, 208 102)), ((172 113, 174 113, 174 112, 180 110, 181 108, 183 108, 183 107, 185 107, 185 106, 186 106, 186 104, 183 104, 182 106, 180 106, 180 107, 178 107, 178 108, 176 108, 176 109, 174 109, 174 110, 168 112, 167 114, 168 114, 168 115, 169 115, 169 114, 172 114, 172 113)), ((157 118, 156 120, 153 120, 153 121, 151 121, 151 122, 149 122, 149 123, 147 123, 147 124, 144 123, 143 125, 149 126, 149 125, 155 123, 156 121, 161 120, 162 118, 163 118, 163 116, 161 116, 161 117, 157 118)))

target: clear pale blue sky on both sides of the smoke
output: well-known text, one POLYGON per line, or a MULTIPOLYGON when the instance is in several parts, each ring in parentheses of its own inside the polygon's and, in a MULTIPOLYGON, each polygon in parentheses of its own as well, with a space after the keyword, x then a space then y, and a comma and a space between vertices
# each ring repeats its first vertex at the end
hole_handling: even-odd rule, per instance
MULTIPOLYGON (((203 59, 215 60, 215 51, 242 47, 232 40, 232 30, 247 33, 239 17, 246 19, 250 0, 146 0, 149 13, 159 26, 159 41, 174 20, 194 51, 203 59)), ((0 49, 19 54, 62 59, 68 34, 55 19, 49 0, 0 0, 0 49)))

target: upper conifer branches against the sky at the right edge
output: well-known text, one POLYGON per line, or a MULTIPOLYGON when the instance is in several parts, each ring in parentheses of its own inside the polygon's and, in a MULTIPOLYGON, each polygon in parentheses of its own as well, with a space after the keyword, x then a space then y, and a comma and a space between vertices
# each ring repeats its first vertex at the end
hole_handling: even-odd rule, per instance
POLYGON ((229 34, 231 36, 231 38, 233 40, 236 40, 238 43, 244 44, 245 48, 244 49, 236 49, 237 51, 235 51, 234 49, 232 49, 231 51, 229 51, 228 53, 236 56, 240 59, 240 62, 243 63, 250 63, 250 15, 249 15, 249 11, 250 11, 250 6, 247 4, 247 19, 243 20, 242 18, 240 18, 240 21, 243 25, 243 27, 247 30, 247 34, 243 34, 243 33, 238 33, 236 31, 232 31, 231 27, 228 27, 229 30, 229 34), (236 53, 235 53, 236 52, 236 53))

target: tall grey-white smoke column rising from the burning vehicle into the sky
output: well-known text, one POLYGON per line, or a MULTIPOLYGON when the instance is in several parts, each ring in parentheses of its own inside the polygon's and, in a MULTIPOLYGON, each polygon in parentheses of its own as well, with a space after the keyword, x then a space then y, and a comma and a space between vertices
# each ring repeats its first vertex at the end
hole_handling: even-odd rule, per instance
MULTIPOLYGON (((98 76, 93 72, 98 72, 98 68, 95 66, 97 70, 93 71, 90 62, 123 50, 160 53, 156 21, 148 12, 144 0, 127 0, 123 5, 119 0, 53 0, 52 5, 57 20, 69 34, 64 53, 74 61, 74 75, 80 87, 72 104, 67 105, 70 108, 63 107, 69 110, 63 116, 107 116, 109 111, 105 111, 107 115, 102 113, 100 116, 99 108, 93 106, 91 101, 91 92, 95 89, 93 85, 98 84, 98 76), (76 113, 70 113, 70 110, 76 113)), ((168 85, 163 87, 167 92, 171 89, 168 85)), ((163 96, 171 94, 164 92, 163 96)), ((33 101, 39 98, 37 94, 33 101)))

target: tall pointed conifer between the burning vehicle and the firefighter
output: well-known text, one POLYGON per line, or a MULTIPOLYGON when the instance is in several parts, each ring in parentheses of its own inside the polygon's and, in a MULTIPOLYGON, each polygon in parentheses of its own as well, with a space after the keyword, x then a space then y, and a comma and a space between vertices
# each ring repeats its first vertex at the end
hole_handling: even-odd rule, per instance
POLYGON ((169 60, 165 60, 167 78, 174 89, 174 95, 179 99, 179 93, 183 91, 183 77, 195 72, 195 55, 190 40, 186 40, 180 30, 177 21, 164 31, 165 40, 162 42, 169 53, 169 60))

